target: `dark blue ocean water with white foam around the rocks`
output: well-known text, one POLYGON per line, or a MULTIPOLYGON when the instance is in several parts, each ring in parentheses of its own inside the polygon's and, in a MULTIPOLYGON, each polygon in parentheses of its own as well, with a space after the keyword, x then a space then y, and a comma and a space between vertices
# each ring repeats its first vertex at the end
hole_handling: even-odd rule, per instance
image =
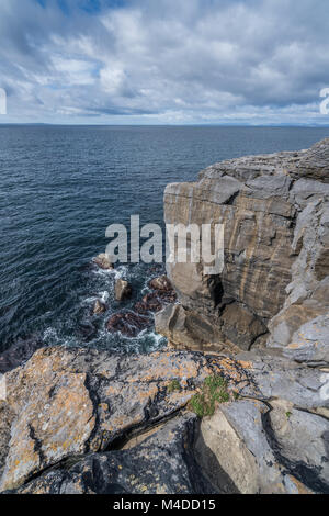
POLYGON ((133 214, 162 224, 166 184, 193 181, 215 161, 327 136, 328 128, 0 125, 0 351, 31 335, 123 352, 161 346, 151 328, 134 339, 105 329, 122 309, 115 277, 133 283, 129 309, 152 273, 143 265, 89 267, 105 249, 106 227, 133 214), (101 317, 90 315, 97 299, 109 305, 101 317))

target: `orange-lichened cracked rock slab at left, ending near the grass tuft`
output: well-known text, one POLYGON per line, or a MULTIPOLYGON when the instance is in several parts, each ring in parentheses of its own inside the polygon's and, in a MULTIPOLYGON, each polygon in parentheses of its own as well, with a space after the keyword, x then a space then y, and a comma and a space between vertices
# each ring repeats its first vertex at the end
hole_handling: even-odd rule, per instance
POLYGON ((2 447, 8 455, 0 491, 68 457, 105 450, 129 429, 174 413, 193 395, 189 382, 209 373, 202 364, 203 357, 181 352, 150 358, 38 350, 26 366, 7 373, 7 407, 14 419, 2 447), (173 379, 181 381, 181 392, 167 392, 173 379))

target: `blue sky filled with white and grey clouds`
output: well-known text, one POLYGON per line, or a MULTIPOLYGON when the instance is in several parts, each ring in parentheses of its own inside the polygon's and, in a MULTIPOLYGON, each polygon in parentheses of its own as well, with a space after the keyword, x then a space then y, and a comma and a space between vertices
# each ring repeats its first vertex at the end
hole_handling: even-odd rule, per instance
POLYGON ((328 0, 0 0, 0 122, 326 124, 328 0))

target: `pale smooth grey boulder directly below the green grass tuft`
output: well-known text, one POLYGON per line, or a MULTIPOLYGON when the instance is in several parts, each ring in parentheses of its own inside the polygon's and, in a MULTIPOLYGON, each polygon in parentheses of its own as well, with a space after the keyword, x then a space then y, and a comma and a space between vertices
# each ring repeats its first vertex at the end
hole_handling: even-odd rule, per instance
MULTIPOLYGON (((269 406, 262 402, 241 400, 223 404, 213 417, 203 419, 195 446, 208 481, 220 489, 226 475, 234 480, 235 492, 241 494, 314 493, 291 473, 302 465, 296 457, 290 469, 277 460, 264 424, 269 413, 269 406), (207 469, 206 461, 209 460, 213 464, 207 469)), ((318 436, 317 445, 320 442, 318 436)), ((308 483, 310 478, 306 479, 308 483)), ((327 491, 328 484, 318 485, 315 481, 313 487, 327 491)))

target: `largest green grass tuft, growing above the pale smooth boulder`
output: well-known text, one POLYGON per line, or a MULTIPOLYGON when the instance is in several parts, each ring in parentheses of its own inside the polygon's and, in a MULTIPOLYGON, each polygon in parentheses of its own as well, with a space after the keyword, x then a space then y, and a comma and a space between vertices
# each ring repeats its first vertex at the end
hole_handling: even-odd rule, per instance
POLYGON ((212 416, 216 408, 216 403, 229 402, 230 395, 227 390, 226 380, 219 375, 205 379, 202 392, 195 394, 190 401, 191 410, 198 416, 212 416))

